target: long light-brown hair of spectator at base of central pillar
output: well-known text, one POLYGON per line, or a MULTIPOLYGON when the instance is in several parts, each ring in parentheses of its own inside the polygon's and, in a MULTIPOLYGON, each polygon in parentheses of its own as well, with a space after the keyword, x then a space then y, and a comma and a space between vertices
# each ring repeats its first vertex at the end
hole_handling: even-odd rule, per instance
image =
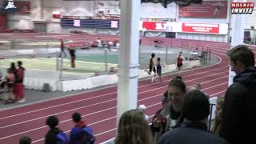
POLYGON ((139 110, 128 110, 118 122, 118 134, 115 144, 151 143, 150 127, 139 110))

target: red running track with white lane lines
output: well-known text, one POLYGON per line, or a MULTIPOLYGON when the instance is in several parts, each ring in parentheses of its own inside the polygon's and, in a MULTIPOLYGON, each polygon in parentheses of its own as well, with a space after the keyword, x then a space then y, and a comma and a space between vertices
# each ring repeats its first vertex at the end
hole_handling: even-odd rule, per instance
MULTIPOLYGON (((153 38, 143 38, 143 45, 151 45, 153 38)), ((229 43, 200 42, 192 40, 162 38, 164 44, 180 46, 180 43, 196 42, 198 46, 211 48, 212 54, 219 58, 214 66, 184 71, 182 77, 186 86, 190 87, 200 82, 202 89, 211 97, 225 94, 228 86, 228 58, 226 51, 230 49, 229 43)), ((256 50, 255 47, 251 47, 256 50)), ((144 104, 148 108, 146 114, 152 115, 161 108, 162 94, 168 82, 175 74, 163 77, 162 84, 150 83, 150 80, 138 82, 138 105, 144 104)), ((74 126, 71 114, 79 112, 86 120, 96 135, 96 143, 105 142, 114 138, 116 128, 117 87, 112 86, 102 90, 75 94, 70 97, 58 98, 46 102, 23 106, 12 110, 0 111, 0 143, 18 143, 22 136, 30 136, 33 143, 44 143, 44 136, 48 127, 45 126, 46 118, 57 115, 59 127, 69 135, 74 126)))

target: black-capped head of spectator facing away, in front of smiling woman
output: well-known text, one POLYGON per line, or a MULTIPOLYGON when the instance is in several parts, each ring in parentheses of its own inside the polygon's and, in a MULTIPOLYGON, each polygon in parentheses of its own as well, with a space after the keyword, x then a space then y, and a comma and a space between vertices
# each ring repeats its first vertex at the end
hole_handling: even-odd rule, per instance
POLYGON ((182 106, 182 114, 192 122, 206 119, 210 114, 210 102, 206 94, 200 90, 187 92, 182 106))

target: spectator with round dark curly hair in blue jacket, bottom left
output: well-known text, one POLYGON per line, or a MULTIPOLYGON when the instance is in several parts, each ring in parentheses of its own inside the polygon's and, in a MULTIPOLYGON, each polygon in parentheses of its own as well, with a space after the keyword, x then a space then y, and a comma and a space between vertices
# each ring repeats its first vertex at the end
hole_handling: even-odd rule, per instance
POLYGON ((46 125, 50 127, 50 130, 46 134, 46 144, 67 144, 68 138, 62 130, 58 129, 58 118, 50 116, 46 119, 46 125))

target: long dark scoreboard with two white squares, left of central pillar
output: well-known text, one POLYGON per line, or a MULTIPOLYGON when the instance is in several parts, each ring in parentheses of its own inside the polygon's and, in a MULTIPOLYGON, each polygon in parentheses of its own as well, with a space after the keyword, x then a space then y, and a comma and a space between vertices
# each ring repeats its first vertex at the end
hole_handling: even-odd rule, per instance
POLYGON ((62 18, 61 26, 79 28, 118 29, 119 20, 62 18))

